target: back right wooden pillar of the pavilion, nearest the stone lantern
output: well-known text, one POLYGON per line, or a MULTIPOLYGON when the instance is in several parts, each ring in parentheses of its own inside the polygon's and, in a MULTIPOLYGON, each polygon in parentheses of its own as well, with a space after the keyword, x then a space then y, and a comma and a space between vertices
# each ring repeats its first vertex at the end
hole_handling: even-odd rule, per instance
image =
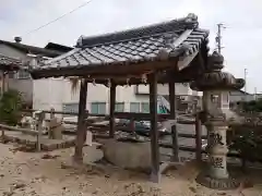
POLYGON ((178 146, 178 132, 177 132, 177 99, 176 99, 176 85, 174 82, 168 84, 169 89, 169 102, 170 102, 170 115, 172 117, 175 124, 171 126, 172 138, 172 157, 171 161, 179 161, 179 146, 178 146))

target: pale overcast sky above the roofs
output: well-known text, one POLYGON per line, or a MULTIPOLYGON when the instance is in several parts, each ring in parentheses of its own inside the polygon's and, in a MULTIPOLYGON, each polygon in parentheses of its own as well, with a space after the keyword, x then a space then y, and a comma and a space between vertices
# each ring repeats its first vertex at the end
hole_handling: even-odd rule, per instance
POLYGON ((243 77, 248 91, 262 93, 262 2, 260 0, 92 0, 56 23, 32 29, 71 11, 87 0, 0 0, 0 39, 45 46, 48 41, 74 46, 81 35, 96 35, 187 16, 195 13, 200 27, 211 32, 213 50, 217 23, 223 30, 225 70, 243 77))

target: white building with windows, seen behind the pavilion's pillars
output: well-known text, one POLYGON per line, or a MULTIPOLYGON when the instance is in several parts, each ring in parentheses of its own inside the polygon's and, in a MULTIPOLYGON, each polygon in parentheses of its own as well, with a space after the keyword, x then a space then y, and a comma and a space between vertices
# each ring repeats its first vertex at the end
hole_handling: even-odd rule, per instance
MULTIPOLYGON (((158 85, 158 95, 168 95, 168 85, 158 85)), ((183 98, 198 96, 188 84, 176 84, 176 95, 183 98)), ((126 112, 148 112, 148 86, 117 87, 116 110, 126 112)), ((63 78, 34 81, 33 108, 57 111, 78 111, 79 89, 71 90, 71 84, 63 78)), ((86 109, 91 113, 109 112, 109 88, 104 85, 88 84, 86 109)))

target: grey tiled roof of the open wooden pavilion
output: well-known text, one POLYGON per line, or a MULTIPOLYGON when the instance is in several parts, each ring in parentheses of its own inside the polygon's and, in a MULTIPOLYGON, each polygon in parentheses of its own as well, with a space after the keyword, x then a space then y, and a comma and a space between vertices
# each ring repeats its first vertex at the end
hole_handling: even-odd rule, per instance
POLYGON ((135 29, 80 37, 75 49, 33 68, 32 73, 55 70, 73 72, 82 68, 94 70, 97 65, 133 64, 188 56, 198 51, 209 35, 207 30, 198 26, 198 17, 189 14, 184 19, 135 29))

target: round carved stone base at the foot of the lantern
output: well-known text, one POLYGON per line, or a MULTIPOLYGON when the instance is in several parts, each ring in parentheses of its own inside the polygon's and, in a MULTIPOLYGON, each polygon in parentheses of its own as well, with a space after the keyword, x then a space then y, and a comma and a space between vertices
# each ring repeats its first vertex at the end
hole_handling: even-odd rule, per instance
POLYGON ((196 176, 195 181, 205 187, 219 191, 235 189, 239 187, 240 184, 237 180, 230 176, 228 179, 213 179, 203 172, 196 176))

